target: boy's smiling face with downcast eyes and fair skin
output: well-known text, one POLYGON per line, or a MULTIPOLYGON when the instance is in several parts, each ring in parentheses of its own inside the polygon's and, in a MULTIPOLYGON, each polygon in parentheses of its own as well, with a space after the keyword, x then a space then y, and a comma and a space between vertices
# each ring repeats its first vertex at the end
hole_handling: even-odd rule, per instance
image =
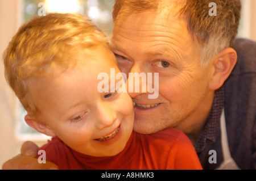
POLYGON ((93 56, 80 57, 75 68, 57 73, 51 81, 31 79, 29 94, 41 111, 38 120, 45 124, 40 132, 56 135, 80 153, 112 156, 130 138, 133 102, 126 92, 97 90, 99 73, 110 78, 110 68, 115 68, 115 74, 119 69, 106 48, 98 46, 90 53, 93 56))

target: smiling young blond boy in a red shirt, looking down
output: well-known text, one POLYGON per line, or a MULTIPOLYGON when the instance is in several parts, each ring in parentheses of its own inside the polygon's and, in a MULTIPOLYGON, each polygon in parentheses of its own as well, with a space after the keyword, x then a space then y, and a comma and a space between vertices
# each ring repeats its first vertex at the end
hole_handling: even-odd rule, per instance
POLYGON ((113 91, 110 82, 109 92, 98 91, 98 75, 119 69, 108 40, 84 16, 30 20, 3 58, 26 123, 53 137, 40 150, 59 169, 201 169, 184 133, 135 133, 127 92, 113 91))

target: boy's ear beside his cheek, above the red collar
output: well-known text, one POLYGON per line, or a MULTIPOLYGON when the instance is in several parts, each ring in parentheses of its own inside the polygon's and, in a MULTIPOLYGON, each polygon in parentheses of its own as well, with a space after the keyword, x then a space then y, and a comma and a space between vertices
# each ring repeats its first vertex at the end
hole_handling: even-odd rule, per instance
POLYGON ((39 121, 36 121, 33 119, 30 115, 26 115, 24 117, 26 123, 31 127, 36 129, 36 131, 46 134, 47 136, 56 136, 55 133, 52 132, 50 128, 47 127, 47 125, 39 123, 39 121))

